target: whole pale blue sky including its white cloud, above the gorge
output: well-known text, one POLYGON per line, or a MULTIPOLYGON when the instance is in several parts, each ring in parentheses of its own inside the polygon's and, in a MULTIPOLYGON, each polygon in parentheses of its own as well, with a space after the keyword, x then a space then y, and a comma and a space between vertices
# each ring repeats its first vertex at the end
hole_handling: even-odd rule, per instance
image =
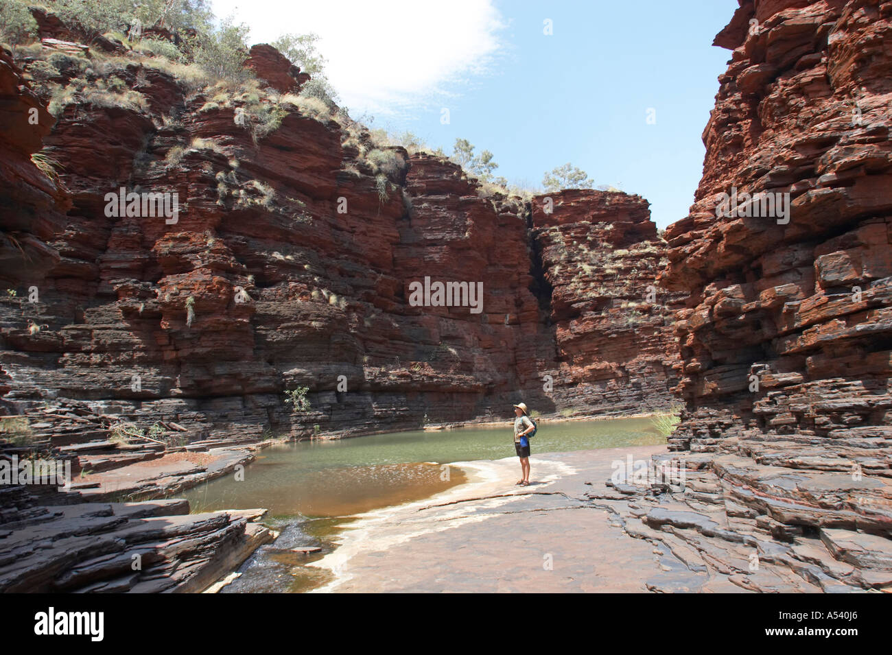
POLYGON ((657 225, 687 215, 700 139, 731 53, 711 45, 736 0, 214 0, 252 42, 316 32, 351 114, 451 152, 494 153, 497 175, 538 186, 567 161, 640 193, 657 225), (345 20, 345 17, 350 17, 345 20), (553 34, 543 34, 543 20, 553 34), (450 123, 441 122, 442 109, 450 123), (648 125, 648 109, 656 124, 648 125))

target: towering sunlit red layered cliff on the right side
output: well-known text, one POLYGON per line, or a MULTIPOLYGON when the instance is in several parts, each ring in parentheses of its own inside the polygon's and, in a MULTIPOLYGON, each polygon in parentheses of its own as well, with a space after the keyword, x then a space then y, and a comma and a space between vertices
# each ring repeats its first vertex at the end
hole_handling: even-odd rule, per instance
POLYGON ((670 443, 759 513, 888 530, 892 3, 747 0, 716 43, 703 179, 666 233, 662 282, 690 294, 670 443))

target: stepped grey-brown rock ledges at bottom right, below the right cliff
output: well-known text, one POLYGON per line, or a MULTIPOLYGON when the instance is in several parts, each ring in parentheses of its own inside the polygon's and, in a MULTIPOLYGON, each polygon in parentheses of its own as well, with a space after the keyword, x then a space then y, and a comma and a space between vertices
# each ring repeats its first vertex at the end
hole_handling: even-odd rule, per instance
POLYGON ((657 578, 651 591, 703 591, 715 577, 766 593, 892 589, 892 540, 881 523, 840 502, 859 491, 892 492, 884 481, 854 484, 735 454, 672 453, 653 461, 666 470, 681 463, 683 476, 650 483, 612 476, 590 482, 586 494, 624 532, 664 547, 690 572, 683 587, 657 578))

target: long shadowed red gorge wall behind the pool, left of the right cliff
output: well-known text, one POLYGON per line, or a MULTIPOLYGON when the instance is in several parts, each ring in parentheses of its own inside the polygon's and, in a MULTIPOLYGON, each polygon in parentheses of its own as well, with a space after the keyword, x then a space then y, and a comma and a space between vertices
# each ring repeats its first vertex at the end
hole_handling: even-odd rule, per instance
MULTIPOLYGON (((265 72, 270 61, 252 51, 277 86, 303 81, 287 61, 265 72)), ((4 74, 23 75, 12 62, 4 74)), ((521 399, 566 415, 670 402, 665 298, 646 303, 665 243, 639 197, 561 192, 545 214, 543 199, 485 196, 432 156, 390 148, 382 168, 368 132, 272 90, 211 96, 111 55, 80 74, 141 99, 81 92, 52 131, 44 120, 4 152, 27 170, 4 168, 2 229, 47 262, 7 258, 2 272, 16 291, 0 299, 8 413, 45 425, 37 408, 65 399, 193 435, 259 436, 502 419, 521 399), (28 161, 41 137, 59 184, 28 161), (122 187, 178 193, 177 222, 107 216, 105 195, 122 187), (411 306, 409 283, 425 276, 483 282, 483 311, 411 306), (312 408, 293 414, 283 393, 299 386, 312 408)), ((4 89, 13 114, 33 96, 21 80, 4 89)))

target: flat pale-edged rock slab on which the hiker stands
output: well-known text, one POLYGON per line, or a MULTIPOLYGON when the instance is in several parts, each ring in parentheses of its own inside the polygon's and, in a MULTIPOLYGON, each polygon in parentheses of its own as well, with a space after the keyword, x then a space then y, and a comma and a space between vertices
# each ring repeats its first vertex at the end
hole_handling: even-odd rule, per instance
POLYGON ((645 593, 657 577, 662 591, 694 591, 706 574, 627 536, 585 496, 586 481, 608 479, 615 460, 661 452, 534 455, 530 487, 514 484, 516 457, 456 463, 467 484, 351 523, 335 552, 314 562, 335 574, 317 591, 645 593))

